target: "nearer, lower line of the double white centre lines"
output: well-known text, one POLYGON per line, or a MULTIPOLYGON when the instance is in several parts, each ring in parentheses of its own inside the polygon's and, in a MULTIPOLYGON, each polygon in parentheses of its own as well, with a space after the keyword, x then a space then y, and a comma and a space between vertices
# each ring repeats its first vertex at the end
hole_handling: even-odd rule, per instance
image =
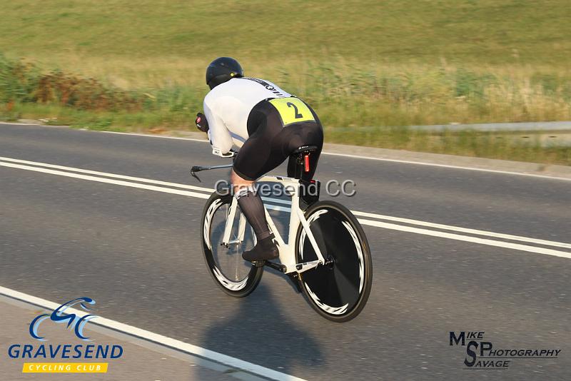
MULTIPOLYGON (((158 187, 158 186, 147 186, 145 184, 129 183, 127 181, 117 181, 117 180, 112 180, 109 178, 98 178, 95 176, 80 175, 78 173, 55 171, 55 170, 51 170, 51 169, 47 169, 47 168, 23 166, 21 164, 5 163, 5 162, 1 162, 1 161, 0 161, 0 166, 5 166, 5 167, 9 167, 9 168, 19 168, 19 169, 24 169, 27 171, 49 173, 52 175, 66 176, 66 177, 70 177, 70 178, 80 178, 82 180, 97 181, 97 182, 101 182, 101 183, 110 183, 110 184, 115 184, 115 185, 119 185, 119 186, 128 186, 131 188, 141 188, 141 189, 146 189, 149 191, 173 193, 173 194, 178 194, 178 195, 187 195, 187 196, 197 197, 197 198, 209 198, 210 197, 208 194, 203 194, 203 193, 181 191, 178 189, 164 188, 164 187, 158 187)), ((270 210, 290 211, 290 208, 278 206, 278 205, 267 205, 266 208, 268 208, 270 210)), ((357 212, 357 213, 364 213, 364 212, 357 212)), ((388 217, 390 217, 390 216, 388 216, 388 217)), ((514 249, 514 250, 523 250, 523 251, 527 251, 527 252, 531 252, 531 253, 539 253, 539 254, 555 255, 555 256, 563 257, 563 258, 571 258, 571 253, 567 253, 567 252, 559 251, 559 250, 538 248, 535 246, 520 245, 517 243, 507 243, 507 242, 502 242, 502 241, 487 240, 487 239, 483 239, 483 238, 471 237, 468 235, 444 233, 444 232, 435 231, 435 230, 420 229, 420 228, 413 228, 413 227, 409 227, 409 226, 396 225, 393 223, 383 223, 380 221, 372 221, 372 220, 365 220, 365 219, 360 219, 360 221, 363 223, 363 225, 371 225, 371 226, 376 226, 378 228, 387 228, 387 229, 393 229, 393 230, 408 231, 410 233, 432 235, 435 237, 449 238, 449 239, 454 239, 454 240, 464 240, 466 242, 480 243, 482 245, 491 245, 491 246, 497 246, 497 247, 502 247, 502 248, 510 248, 510 249, 514 249)), ((430 223, 427 223, 427 224, 430 224, 430 223)), ((435 225, 438 225, 438 224, 435 224, 435 225)), ((459 228, 459 229, 461 229, 461 228, 459 228)), ((530 239, 532 239, 532 238, 530 238, 530 239)), ((561 244, 563 244, 563 243, 561 243, 561 244)))

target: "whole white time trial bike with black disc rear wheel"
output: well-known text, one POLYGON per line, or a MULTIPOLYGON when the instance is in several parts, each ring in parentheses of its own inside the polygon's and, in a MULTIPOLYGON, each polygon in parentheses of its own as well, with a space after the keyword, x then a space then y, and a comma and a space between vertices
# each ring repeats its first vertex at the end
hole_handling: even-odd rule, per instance
MULTIPOLYGON (((308 156, 316 149, 303 146, 292 153, 297 163, 293 178, 258 179, 281 184, 291 198, 285 206, 283 200, 278 200, 281 205, 264 203, 279 261, 243 260, 243 251, 256 245, 256 235, 229 189, 215 191, 206 201, 201 218, 202 250, 214 281, 228 295, 249 295, 260 283, 264 266, 268 266, 288 275, 320 315, 345 322, 357 316, 367 303, 373 264, 367 238, 353 213, 340 203, 319 201, 318 181, 301 180, 303 171, 308 171, 308 156), (281 237, 268 208, 290 213, 287 240, 281 237)), ((233 156, 235 153, 228 157, 233 156)), ((231 166, 193 166, 191 173, 198 178, 199 171, 231 166)))

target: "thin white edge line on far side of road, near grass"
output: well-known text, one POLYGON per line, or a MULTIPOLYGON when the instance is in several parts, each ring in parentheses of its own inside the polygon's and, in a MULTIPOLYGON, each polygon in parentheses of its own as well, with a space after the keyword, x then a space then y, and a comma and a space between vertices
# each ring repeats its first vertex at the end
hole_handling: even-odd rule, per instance
MULTIPOLYGON (((176 136, 148 135, 145 133, 128 133, 128 132, 115 132, 115 131, 97 131, 97 132, 118 133, 121 135, 145 136, 147 138, 168 138, 168 139, 179 139, 179 140, 187 140, 187 141, 201 141, 203 143, 208 143, 208 140, 195 139, 195 138, 178 138, 176 136)), ((433 167, 440 167, 440 168, 462 169, 465 171, 490 172, 490 173, 499 173, 502 175, 529 176, 529 177, 535 177, 535 178, 547 178, 550 180, 571 181, 571 178, 558 177, 558 176, 536 175, 535 173, 521 173, 521 172, 512 172, 512 171, 499 171, 496 169, 486 169, 486 168, 452 166, 449 164, 427 163, 425 161, 409 161, 409 160, 390 159, 390 158, 373 158, 371 156, 361 156, 361 155, 353 155, 350 153, 335 153, 335 152, 326 152, 326 151, 323 151, 322 154, 323 155, 331 155, 331 156, 342 156, 345 158, 359 158, 359 159, 365 159, 365 160, 388 161, 388 162, 392 162, 392 163, 416 164, 418 166, 433 166, 433 167)))

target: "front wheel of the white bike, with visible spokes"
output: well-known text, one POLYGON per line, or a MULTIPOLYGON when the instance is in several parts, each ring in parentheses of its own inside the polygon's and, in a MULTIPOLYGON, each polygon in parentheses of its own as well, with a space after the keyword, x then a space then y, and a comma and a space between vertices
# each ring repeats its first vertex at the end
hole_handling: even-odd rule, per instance
POLYGON ((244 250, 250 250, 256 244, 252 228, 246 222, 241 237, 241 211, 236 208, 233 228, 228 247, 221 245, 226 219, 232 203, 231 195, 213 193, 206 205, 201 220, 202 249, 206 265, 212 278, 228 295, 242 298, 249 295, 260 283, 263 268, 256 268, 242 259, 244 250))

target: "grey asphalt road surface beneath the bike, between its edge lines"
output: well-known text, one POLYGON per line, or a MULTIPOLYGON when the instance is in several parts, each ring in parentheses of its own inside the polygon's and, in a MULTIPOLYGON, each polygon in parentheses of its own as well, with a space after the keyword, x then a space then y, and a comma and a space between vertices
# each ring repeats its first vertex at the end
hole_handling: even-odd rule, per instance
MULTIPOLYGON (((206 143, 67 128, 0 125, 0 156, 206 187, 227 174, 189 176, 226 163, 206 143)), ((339 156, 323 156, 317 177, 355 181, 355 197, 337 198, 352 210, 571 241, 569 181, 339 156)), ((309 380, 571 379, 570 258, 365 225, 373 290, 359 317, 335 324, 271 270, 248 298, 223 294, 199 249, 203 203, 0 166, 0 285, 86 295, 103 317, 309 380), (465 370, 465 347, 449 343, 461 330, 561 352, 465 370)))

